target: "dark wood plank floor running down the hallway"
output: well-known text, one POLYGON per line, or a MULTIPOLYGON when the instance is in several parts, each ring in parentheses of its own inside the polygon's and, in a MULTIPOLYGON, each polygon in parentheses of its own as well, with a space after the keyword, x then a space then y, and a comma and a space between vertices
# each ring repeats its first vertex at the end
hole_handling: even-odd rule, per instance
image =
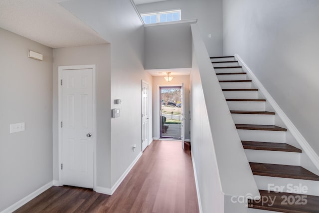
POLYGON ((15 213, 198 213, 189 151, 177 141, 153 141, 112 196, 51 187, 15 213))

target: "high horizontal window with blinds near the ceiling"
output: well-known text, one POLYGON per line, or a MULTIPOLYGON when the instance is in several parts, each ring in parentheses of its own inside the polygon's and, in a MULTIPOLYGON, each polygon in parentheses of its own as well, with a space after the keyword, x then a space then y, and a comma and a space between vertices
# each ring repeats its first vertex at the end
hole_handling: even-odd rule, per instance
POLYGON ((145 24, 179 21, 181 20, 181 10, 173 9, 161 12, 142 13, 141 16, 145 24))

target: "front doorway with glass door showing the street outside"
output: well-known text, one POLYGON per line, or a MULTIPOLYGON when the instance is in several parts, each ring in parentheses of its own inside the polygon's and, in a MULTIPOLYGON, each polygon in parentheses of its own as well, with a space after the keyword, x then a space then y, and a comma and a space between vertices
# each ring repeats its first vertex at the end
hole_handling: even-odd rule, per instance
POLYGON ((160 86, 160 138, 182 139, 182 87, 160 86))

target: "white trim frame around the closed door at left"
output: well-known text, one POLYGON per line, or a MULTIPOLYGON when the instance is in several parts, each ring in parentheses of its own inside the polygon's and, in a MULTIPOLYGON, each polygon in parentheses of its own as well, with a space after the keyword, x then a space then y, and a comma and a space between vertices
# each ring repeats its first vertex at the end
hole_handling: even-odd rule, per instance
POLYGON ((73 65, 73 66, 58 66, 58 170, 59 170, 59 186, 62 186, 62 171, 61 171, 61 164, 62 164, 62 86, 61 86, 61 79, 62 79, 62 72, 63 70, 76 70, 76 69, 92 69, 92 87, 93 87, 93 190, 95 191, 96 188, 96 68, 95 64, 90 65, 73 65))

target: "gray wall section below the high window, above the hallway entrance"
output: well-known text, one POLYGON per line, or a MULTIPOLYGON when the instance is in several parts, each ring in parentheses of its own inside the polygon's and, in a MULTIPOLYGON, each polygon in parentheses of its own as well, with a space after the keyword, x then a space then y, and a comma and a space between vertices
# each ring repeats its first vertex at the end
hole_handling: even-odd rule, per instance
POLYGON ((145 28, 145 69, 191 67, 189 23, 145 28))

